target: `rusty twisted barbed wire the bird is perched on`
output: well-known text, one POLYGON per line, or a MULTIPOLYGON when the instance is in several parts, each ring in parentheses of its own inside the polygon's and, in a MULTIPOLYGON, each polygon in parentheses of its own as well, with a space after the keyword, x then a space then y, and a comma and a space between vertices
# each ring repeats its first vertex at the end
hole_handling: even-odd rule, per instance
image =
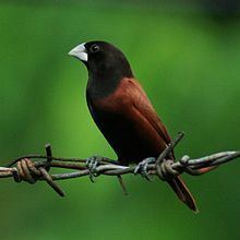
MULTIPOLYGON (((176 140, 173 140, 159 155, 159 157, 156 158, 155 163, 146 166, 145 170, 147 176, 157 176, 163 181, 184 172, 191 176, 200 176, 240 157, 239 151, 227 151, 195 159, 188 155, 184 155, 177 161, 168 159, 167 156, 178 145, 183 136, 184 133, 180 132, 176 140)), ((39 180, 44 180, 60 196, 64 196, 63 190, 56 182, 58 180, 81 178, 84 176, 89 176, 93 180, 93 177, 97 178, 101 175, 117 176, 119 177, 123 191, 127 192, 121 176, 129 173, 141 175, 136 173, 137 166, 121 166, 118 161, 106 157, 95 157, 98 160, 95 164, 95 168, 92 169, 88 164, 89 158, 55 157, 52 156, 50 144, 47 144, 45 149, 46 155, 26 155, 17 157, 11 160, 7 167, 0 167, 0 178, 13 178, 15 182, 25 181, 31 184, 36 183, 39 180), (49 173, 52 168, 74 169, 75 171, 49 173)))

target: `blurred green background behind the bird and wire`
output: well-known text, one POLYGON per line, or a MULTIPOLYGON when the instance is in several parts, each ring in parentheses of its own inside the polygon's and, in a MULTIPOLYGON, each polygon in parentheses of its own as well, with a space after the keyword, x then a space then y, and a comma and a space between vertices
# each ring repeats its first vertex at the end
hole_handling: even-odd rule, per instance
MULTIPOLYGON (((240 21, 238 1, 0 2, 0 159, 44 153, 115 158, 85 103, 87 71, 68 57, 103 39, 128 56, 172 136, 177 156, 239 149, 240 21)), ((238 160, 184 179, 200 214, 160 181, 124 177, 0 183, 1 239, 239 239, 238 160)))

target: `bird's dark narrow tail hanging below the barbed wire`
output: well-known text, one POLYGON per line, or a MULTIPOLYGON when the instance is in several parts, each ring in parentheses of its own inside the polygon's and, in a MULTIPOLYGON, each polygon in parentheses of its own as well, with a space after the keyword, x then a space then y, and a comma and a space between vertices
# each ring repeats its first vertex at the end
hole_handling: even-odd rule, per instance
POLYGON ((178 197, 192 211, 195 213, 199 212, 195 200, 193 199, 191 192, 187 188, 183 180, 180 178, 180 176, 175 177, 172 179, 167 180, 167 182, 170 184, 171 189, 176 192, 178 197))

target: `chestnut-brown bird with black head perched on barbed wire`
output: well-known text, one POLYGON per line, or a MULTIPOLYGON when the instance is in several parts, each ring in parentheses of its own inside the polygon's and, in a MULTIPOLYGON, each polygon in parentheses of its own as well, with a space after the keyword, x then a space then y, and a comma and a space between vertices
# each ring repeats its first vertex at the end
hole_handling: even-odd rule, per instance
MULTIPOLYGON (((86 103, 118 163, 140 166, 144 159, 157 158, 171 137, 124 53, 112 44, 92 40, 77 45, 69 55, 88 71, 86 103)), ((175 160, 173 151, 168 158, 175 160)), ((166 181, 180 201, 197 212, 195 200, 180 176, 166 181)))

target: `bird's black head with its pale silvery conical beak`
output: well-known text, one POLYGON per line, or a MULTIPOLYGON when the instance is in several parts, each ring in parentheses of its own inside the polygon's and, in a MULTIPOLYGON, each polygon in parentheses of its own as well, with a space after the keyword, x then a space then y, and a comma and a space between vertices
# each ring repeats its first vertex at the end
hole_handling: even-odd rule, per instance
POLYGON ((89 79, 98 81, 116 81, 133 76, 131 67, 125 56, 117 47, 106 41, 84 43, 70 52, 81 60, 87 68, 89 79))

